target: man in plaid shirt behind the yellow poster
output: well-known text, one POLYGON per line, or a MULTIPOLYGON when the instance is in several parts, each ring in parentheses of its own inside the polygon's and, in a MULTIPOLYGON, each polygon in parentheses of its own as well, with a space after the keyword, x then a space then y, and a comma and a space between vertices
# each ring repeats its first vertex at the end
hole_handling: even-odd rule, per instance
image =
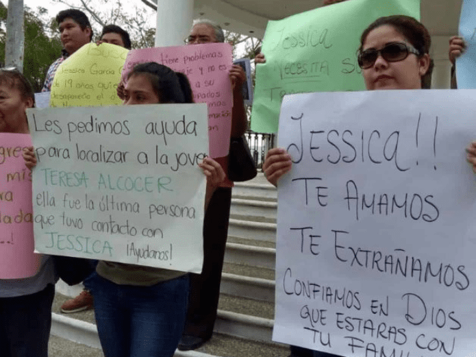
POLYGON ((60 11, 56 15, 56 22, 60 28, 61 43, 64 49, 62 50, 62 56, 49 66, 42 92, 51 91, 51 85, 60 64, 75 51, 91 42, 92 39, 91 24, 88 16, 82 11, 76 9, 60 11))

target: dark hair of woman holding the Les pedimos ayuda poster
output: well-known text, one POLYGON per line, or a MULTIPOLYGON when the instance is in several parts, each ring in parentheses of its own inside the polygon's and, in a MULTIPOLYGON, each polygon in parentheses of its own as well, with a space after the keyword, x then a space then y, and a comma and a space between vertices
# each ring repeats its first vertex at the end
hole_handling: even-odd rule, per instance
POLYGON ((193 103, 192 88, 184 73, 155 62, 140 63, 127 75, 145 75, 151 81, 155 94, 160 103, 193 103))

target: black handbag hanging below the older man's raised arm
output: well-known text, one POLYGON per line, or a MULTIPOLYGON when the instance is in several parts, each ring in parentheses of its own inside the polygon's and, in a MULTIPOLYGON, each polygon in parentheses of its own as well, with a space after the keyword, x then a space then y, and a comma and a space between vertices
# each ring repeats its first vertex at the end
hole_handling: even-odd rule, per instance
POLYGON ((251 180, 257 175, 256 163, 249 151, 245 136, 231 138, 228 155, 228 178, 231 181, 242 182, 251 180))

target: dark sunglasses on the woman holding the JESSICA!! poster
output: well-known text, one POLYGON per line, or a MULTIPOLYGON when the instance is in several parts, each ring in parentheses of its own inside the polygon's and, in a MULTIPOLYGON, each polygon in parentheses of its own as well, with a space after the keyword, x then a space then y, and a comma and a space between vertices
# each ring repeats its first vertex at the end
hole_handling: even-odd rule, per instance
POLYGON ((359 53, 358 63, 361 69, 369 69, 375 64, 379 56, 387 62, 399 62, 405 60, 410 53, 420 56, 420 51, 403 42, 392 42, 381 49, 366 49, 359 53))

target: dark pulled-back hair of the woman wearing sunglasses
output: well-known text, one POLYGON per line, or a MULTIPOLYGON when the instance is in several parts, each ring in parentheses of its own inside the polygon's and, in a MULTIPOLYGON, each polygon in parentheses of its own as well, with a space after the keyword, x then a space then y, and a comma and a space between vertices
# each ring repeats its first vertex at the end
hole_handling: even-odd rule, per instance
MULTIPOLYGON (((429 47, 431 46, 431 36, 429 36, 427 28, 412 16, 406 15, 384 16, 371 23, 366 29, 364 29, 362 36, 360 36, 359 52, 362 51, 368 34, 373 29, 384 25, 392 26, 397 30, 397 32, 402 34, 403 37, 405 37, 408 42, 410 42, 410 44, 415 47, 418 53, 420 53, 418 57, 425 55, 425 53, 429 53, 429 47)), ((428 83, 431 84, 432 69, 433 67, 431 66, 431 69, 429 68, 427 73, 421 77, 422 88, 428 86, 428 83)))

